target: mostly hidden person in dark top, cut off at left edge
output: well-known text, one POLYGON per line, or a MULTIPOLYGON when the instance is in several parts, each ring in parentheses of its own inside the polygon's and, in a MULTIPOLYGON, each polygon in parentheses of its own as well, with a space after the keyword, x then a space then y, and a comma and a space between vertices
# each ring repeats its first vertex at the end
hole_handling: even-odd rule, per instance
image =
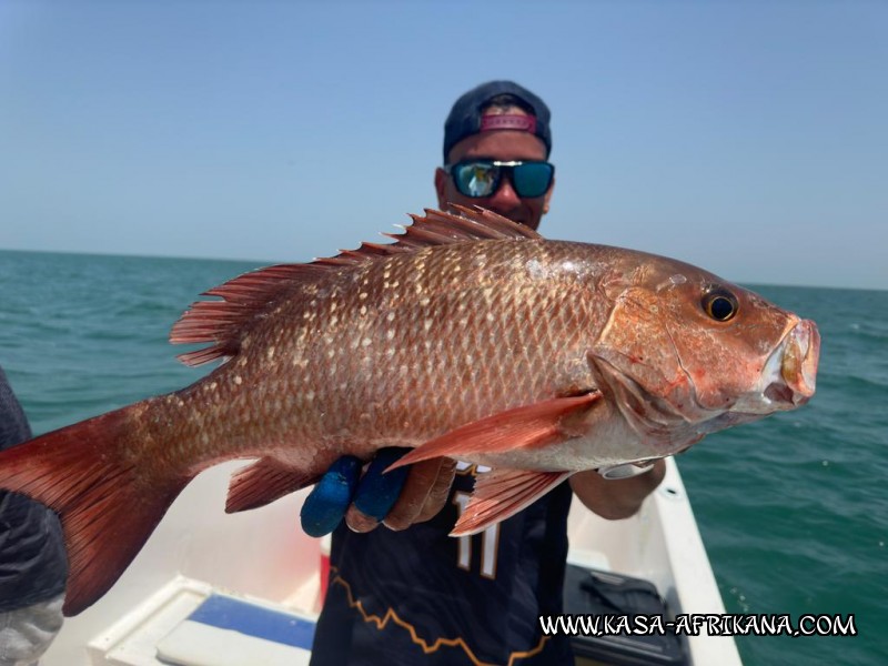
MULTIPOLYGON (((0 369, 0 450, 31 428, 0 369)), ((31 666, 62 625, 68 576, 56 514, 23 495, 0 492, 0 666, 31 666)))

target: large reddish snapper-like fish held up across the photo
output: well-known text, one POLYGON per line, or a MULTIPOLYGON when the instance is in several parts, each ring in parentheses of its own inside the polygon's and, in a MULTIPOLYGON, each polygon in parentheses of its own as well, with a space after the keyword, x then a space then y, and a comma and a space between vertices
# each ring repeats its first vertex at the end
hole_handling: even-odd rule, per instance
POLYGON ((461 213, 210 290, 221 300, 194 303, 171 341, 211 343, 180 359, 218 369, 0 455, 0 487, 61 517, 65 614, 222 461, 259 458, 232 478, 230 512, 382 446, 490 465, 467 534, 574 472, 667 456, 814 393, 813 322, 685 263, 461 213))

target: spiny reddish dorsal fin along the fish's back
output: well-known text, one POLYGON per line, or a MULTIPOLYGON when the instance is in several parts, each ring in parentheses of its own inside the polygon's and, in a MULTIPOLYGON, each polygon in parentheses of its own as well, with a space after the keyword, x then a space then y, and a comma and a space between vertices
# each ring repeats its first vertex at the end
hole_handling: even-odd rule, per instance
POLYGON ((425 216, 411 215, 413 224, 404 233, 384 234, 394 243, 362 243, 356 250, 343 250, 336 256, 316 259, 306 264, 281 264, 244 273, 203 292, 221 301, 195 301, 170 331, 173 344, 212 343, 194 352, 180 354, 185 365, 201 365, 216 359, 234 356, 240 347, 241 331, 258 313, 320 273, 362 264, 367 261, 415 252, 420 248, 450 245, 485 240, 528 240, 542 236, 529 226, 518 224, 480 206, 451 204, 458 214, 425 210, 425 216))

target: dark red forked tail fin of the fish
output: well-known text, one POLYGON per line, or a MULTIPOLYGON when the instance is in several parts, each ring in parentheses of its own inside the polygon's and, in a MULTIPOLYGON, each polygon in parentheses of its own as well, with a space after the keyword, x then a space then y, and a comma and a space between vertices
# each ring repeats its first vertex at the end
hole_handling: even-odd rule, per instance
POLYGON ((131 416, 141 406, 109 412, 0 453, 0 488, 29 495, 61 518, 68 616, 108 592, 190 481, 148 482, 140 474, 131 416))

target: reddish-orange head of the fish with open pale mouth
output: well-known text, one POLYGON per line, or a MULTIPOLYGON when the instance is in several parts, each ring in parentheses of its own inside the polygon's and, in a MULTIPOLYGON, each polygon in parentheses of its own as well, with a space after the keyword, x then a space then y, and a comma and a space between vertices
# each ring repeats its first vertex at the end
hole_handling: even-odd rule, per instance
POLYGON ((613 307, 591 359, 649 440, 680 450, 814 395, 820 337, 813 321, 664 258, 603 289, 613 307))

